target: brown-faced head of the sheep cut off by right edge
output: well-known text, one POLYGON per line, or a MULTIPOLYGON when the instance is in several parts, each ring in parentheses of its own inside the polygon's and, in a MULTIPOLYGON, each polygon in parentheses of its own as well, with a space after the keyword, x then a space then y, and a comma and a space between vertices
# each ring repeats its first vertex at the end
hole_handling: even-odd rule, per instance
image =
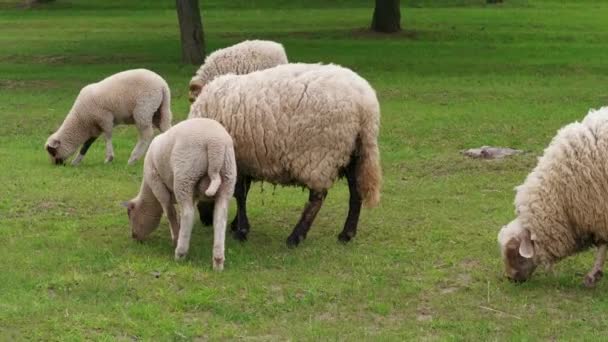
POLYGON ((502 227, 498 233, 498 243, 507 277, 517 282, 528 280, 538 266, 530 231, 521 226, 519 219, 515 219, 502 227))

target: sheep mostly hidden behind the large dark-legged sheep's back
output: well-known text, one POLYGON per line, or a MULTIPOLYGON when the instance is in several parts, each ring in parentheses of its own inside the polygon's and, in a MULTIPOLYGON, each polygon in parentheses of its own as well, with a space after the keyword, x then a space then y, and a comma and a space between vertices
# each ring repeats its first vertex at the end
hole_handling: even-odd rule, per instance
POLYGON ((188 99, 190 103, 194 102, 201 89, 217 76, 228 73, 243 75, 280 64, 287 64, 285 49, 283 45, 268 40, 246 40, 214 51, 192 77, 188 99))

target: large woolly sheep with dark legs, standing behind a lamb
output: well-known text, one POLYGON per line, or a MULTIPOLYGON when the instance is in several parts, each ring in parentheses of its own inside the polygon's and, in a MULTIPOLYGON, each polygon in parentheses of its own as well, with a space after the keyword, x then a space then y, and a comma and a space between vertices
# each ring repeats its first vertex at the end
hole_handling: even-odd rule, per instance
POLYGON ((246 199, 252 180, 309 189, 288 247, 306 238, 338 177, 346 177, 350 191, 340 241, 356 235, 362 202, 373 207, 380 200, 380 106, 369 83, 349 69, 285 64, 220 76, 205 86, 189 117, 218 120, 234 140, 239 177, 231 228, 239 240, 249 232, 246 199))

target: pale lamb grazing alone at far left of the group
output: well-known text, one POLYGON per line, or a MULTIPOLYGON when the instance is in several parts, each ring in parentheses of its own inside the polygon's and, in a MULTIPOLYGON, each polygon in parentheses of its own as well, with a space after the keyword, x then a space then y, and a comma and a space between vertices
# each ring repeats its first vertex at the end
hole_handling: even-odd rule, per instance
POLYGON ((78 165, 100 134, 106 140, 106 158, 114 159, 112 128, 118 124, 135 124, 139 140, 129 158, 134 164, 146 152, 154 136, 171 127, 171 92, 167 82, 146 69, 119 72, 80 90, 63 124, 46 141, 51 162, 63 164, 78 146, 80 153, 72 161, 78 165))

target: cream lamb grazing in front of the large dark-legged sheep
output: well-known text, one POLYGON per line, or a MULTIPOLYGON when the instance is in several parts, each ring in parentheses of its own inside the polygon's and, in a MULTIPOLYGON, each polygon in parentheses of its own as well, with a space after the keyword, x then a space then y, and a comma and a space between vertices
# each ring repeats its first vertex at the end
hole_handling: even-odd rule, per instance
POLYGON ((175 259, 188 253, 194 220, 194 201, 214 201, 213 268, 224 268, 226 216, 236 183, 236 162, 230 135, 217 121, 191 119, 159 134, 144 159, 139 194, 123 203, 132 237, 143 241, 163 211, 169 219, 176 246, 175 259), (181 208, 177 219, 174 201, 181 208))

